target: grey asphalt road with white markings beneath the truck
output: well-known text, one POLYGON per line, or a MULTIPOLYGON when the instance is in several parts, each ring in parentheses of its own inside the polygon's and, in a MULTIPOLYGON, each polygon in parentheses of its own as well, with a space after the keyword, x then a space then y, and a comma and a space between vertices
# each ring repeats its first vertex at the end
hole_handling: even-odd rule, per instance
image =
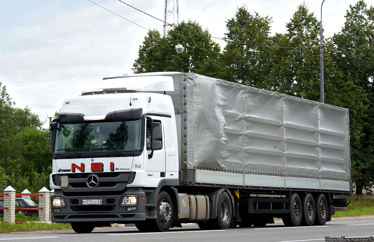
MULTIPOLYGON (((26 233, 0 235, 0 241, 30 242, 299 242, 326 241, 329 238, 369 238, 374 237, 374 219, 333 220, 325 226, 285 227, 281 221, 265 227, 236 227, 227 230, 200 230, 190 224, 183 228, 173 228, 168 232, 140 232, 135 227, 95 229, 89 234, 77 234, 73 231, 53 233, 26 233)), ((331 241, 331 240, 330 240, 331 241)), ((368 240, 372 241, 372 240, 368 240)))

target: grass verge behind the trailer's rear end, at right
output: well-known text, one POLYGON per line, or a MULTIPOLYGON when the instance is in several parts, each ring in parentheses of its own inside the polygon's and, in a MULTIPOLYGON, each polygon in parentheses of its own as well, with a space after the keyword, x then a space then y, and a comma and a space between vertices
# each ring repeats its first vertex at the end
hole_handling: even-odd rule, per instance
MULTIPOLYGON (((342 196, 341 198, 346 198, 342 196)), ((347 196, 348 201, 352 201, 348 205, 348 211, 336 211, 332 218, 338 217, 350 217, 350 216, 360 216, 360 215, 371 215, 374 214, 374 198, 373 196, 347 196)))

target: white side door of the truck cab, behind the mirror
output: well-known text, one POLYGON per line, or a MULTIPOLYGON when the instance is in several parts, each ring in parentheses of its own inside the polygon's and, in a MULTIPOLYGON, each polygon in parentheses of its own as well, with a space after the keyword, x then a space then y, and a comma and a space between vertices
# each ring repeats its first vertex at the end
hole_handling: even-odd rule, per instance
MULTIPOLYGON (((165 134, 164 134, 164 127, 163 127, 163 117, 159 116, 147 116, 150 117, 153 122, 161 123, 162 127, 162 149, 154 150, 153 155, 151 155, 151 120, 146 120, 146 128, 145 128, 145 147, 144 147, 144 164, 145 164, 145 176, 146 179, 157 180, 163 179, 165 177, 165 134)), ((156 181, 155 181, 156 182, 156 181)), ((157 182, 158 184, 158 182, 157 182)))

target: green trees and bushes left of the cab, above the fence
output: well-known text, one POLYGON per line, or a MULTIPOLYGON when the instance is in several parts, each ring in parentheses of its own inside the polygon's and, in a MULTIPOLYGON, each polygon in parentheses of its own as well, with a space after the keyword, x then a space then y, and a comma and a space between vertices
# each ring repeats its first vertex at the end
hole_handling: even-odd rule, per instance
POLYGON ((42 129, 37 115, 14 103, 0 83, 0 190, 12 186, 37 193, 49 187, 52 171, 49 130, 42 129))

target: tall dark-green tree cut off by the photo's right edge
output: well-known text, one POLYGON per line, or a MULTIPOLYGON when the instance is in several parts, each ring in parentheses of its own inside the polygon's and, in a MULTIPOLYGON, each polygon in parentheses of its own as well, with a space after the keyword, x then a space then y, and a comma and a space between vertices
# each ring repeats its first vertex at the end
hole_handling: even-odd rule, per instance
MULTIPOLYGON (((352 180, 356 194, 371 192, 374 183, 374 7, 358 1, 346 13, 346 22, 340 32, 334 34, 328 48, 335 66, 343 73, 344 80, 352 82, 367 93, 368 109, 363 118, 361 147, 352 149, 352 180), (359 58, 359 59, 358 59, 359 58), (368 60, 365 62, 363 60, 368 60)), ((351 111, 352 112, 352 111, 351 111)))

